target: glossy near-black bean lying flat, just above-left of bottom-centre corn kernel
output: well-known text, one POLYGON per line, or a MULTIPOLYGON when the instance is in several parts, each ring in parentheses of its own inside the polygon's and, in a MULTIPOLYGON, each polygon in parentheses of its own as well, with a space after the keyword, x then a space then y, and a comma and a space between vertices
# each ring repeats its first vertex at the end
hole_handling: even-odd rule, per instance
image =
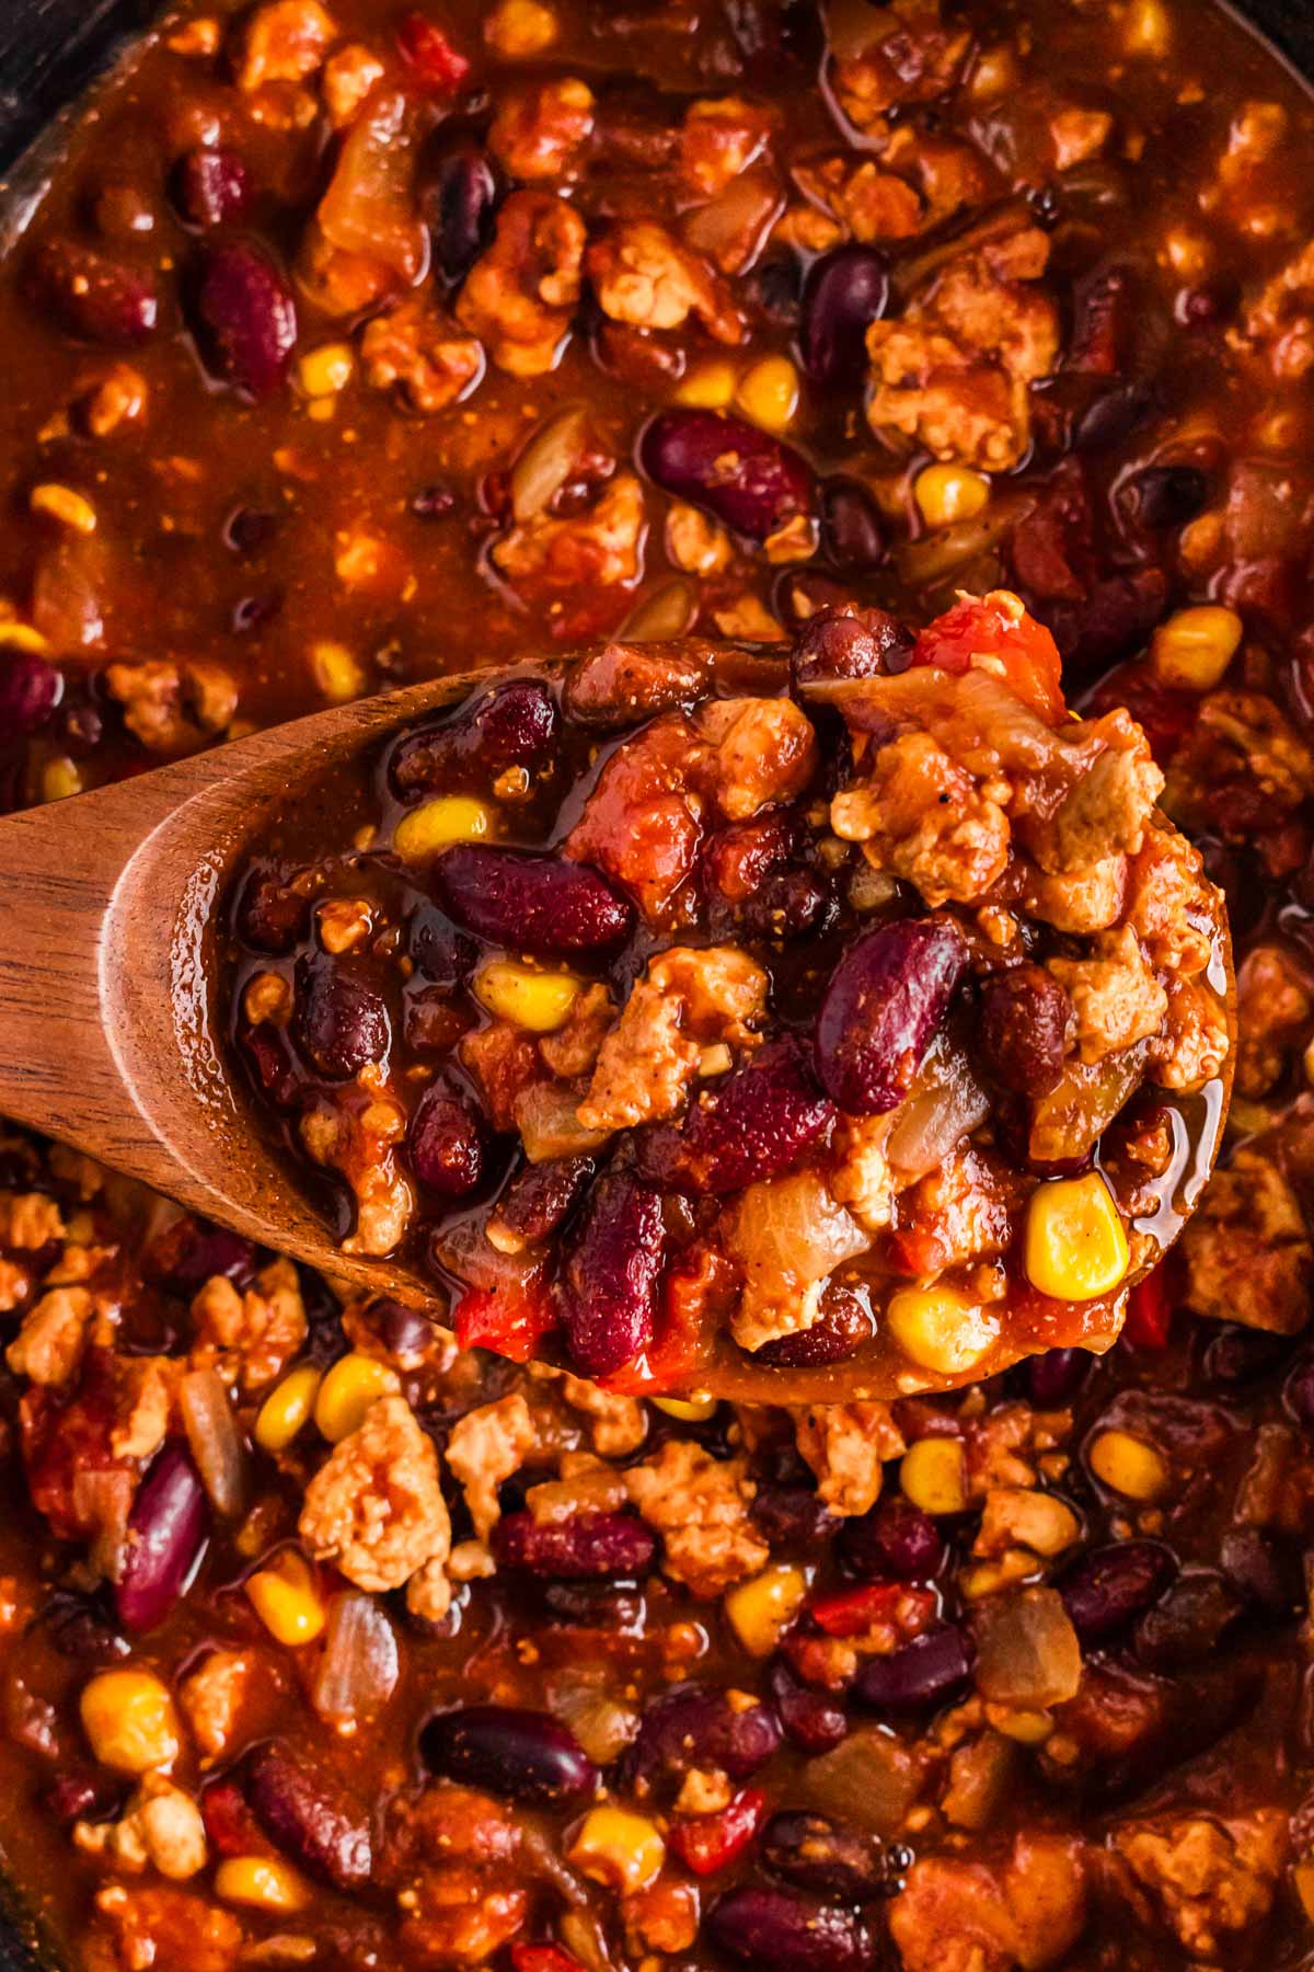
POLYGON ((597 1769, 573 1731, 550 1712, 465 1706, 435 1714, 420 1733, 431 1773, 532 1806, 587 1798, 597 1769))

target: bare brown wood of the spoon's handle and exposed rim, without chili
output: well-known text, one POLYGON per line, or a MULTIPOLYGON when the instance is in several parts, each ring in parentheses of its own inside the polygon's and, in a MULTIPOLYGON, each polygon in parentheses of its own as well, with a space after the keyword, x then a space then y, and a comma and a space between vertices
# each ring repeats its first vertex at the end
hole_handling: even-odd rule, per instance
MULTIPOLYGON (((544 661, 559 672, 561 661, 544 661)), ((522 674, 524 667, 516 667, 522 674)), ((290 803, 335 765, 496 672, 461 674, 335 706, 71 801, 0 820, 0 1116, 28 1124, 262 1246, 370 1294, 441 1296, 414 1268, 353 1258, 333 1240, 230 1079, 215 907, 290 803)), ((1225 941, 1221 941, 1225 943, 1225 941)), ((1198 1100, 1174 1179, 1147 1231, 1172 1244, 1221 1146, 1233 1051, 1198 1100)), ((1097 1347, 1097 1343, 1091 1341, 1097 1347)), ((944 1384, 993 1374, 1005 1345, 944 1384)), ((699 1382, 753 1402, 892 1396, 883 1365, 768 1369, 725 1337, 699 1382)))

